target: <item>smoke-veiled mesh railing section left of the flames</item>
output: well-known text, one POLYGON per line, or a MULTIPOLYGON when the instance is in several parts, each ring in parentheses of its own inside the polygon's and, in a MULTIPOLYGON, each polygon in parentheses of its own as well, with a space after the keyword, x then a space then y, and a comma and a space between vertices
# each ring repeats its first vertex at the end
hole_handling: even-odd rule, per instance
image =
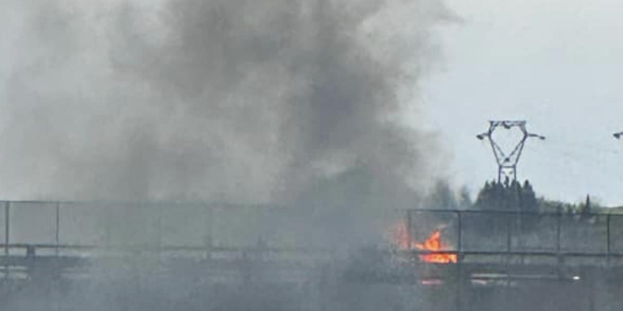
POLYGON ((327 249, 381 244, 405 211, 310 212, 204 203, 0 202, 0 252, 327 249), (355 230, 353 228, 356 227, 355 230), (361 232, 373 232, 361 234, 361 232), (58 247, 56 247, 58 246, 58 247))

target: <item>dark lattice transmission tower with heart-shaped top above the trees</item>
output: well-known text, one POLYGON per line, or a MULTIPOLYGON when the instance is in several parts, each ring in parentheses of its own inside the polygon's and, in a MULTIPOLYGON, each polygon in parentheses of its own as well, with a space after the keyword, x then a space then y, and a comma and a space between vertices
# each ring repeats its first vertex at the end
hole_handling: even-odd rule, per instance
POLYGON ((528 132, 526 129, 526 121, 489 121, 489 129, 482 134, 476 136, 481 141, 488 139, 493 150, 493 156, 498 163, 498 182, 502 182, 502 179, 517 180, 517 164, 523 151, 523 146, 526 144, 528 138, 545 139, 545 136, 528 132), (515 144, 515 147, 509 152, 500 147, 500 144, 495 141, 493 132, 495 131, 510 131, 511 129, 519 129, 521 131, 521 137, 515 144))

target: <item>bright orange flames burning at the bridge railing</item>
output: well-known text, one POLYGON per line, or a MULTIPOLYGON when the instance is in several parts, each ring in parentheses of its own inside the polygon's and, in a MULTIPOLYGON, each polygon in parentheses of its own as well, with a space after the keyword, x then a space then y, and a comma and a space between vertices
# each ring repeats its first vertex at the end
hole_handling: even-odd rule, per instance
MULTIPOLYGON (((435 230, 430 234, 424 243, 417 243, 411 240, 411 234, 404 222, 399 223, 394 228, 394 243, 397 248, 406 251, 411 249, 419 249, 421 251, 439 252, 447 249, 448 245, 441 240, 441 230, 435 230)), ((457 262, 457 255, 450 253, 433 253, 419 255, 421 261, 435 264, 449 264, 457 262)))

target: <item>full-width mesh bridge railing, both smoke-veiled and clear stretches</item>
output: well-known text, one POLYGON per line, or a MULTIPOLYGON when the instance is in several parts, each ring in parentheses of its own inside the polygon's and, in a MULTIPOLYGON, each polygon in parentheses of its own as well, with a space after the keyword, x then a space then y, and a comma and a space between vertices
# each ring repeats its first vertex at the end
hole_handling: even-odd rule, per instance
POLYGON ((419 243, 440 230, 457 253, 623 256, 623 215, 92 202, 0 202, 0 252, 390 246, 401 222, 419 243))

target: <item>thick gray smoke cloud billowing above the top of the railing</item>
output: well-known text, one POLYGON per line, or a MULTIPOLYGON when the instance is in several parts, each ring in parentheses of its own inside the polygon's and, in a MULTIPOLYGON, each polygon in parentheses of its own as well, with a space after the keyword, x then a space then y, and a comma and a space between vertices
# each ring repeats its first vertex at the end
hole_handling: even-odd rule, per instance
POLYGON ((1 5, 2 197, 284 202, 343 175, 392 197, 430 181, 434 143, 401 114, 437 58, 436 0, 1 5))

